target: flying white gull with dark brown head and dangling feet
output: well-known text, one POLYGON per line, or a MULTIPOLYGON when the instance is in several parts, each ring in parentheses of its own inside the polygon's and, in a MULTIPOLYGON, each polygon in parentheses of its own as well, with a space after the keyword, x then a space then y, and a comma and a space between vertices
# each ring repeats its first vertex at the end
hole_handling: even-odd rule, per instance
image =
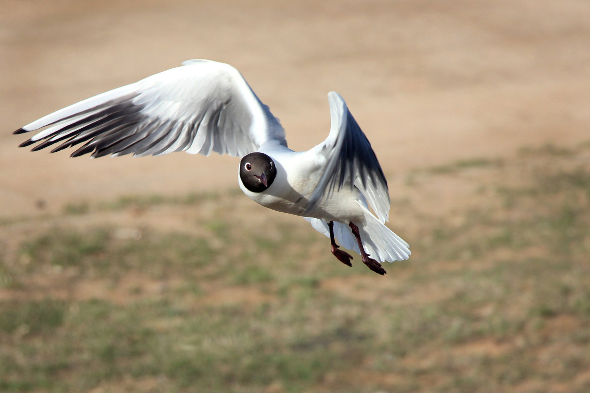
POLYGON ((71 157, 173 151, 242 157, 238 183, 250 199, 302 216, 330 238, 340 262, 352 266, 353 259, 341 245, 384 275, 381 263, 407 260, 409 245, 385 226, 391 200, 371 144, 338 93, 330 92, 328 102, 326 140, 293 151, 278 118, 238 70, 189 60, 55 111, 14 133, 38 131, 20 144, 37 143, 32 151, 57 144, 54 153, 76 146, 71 157))

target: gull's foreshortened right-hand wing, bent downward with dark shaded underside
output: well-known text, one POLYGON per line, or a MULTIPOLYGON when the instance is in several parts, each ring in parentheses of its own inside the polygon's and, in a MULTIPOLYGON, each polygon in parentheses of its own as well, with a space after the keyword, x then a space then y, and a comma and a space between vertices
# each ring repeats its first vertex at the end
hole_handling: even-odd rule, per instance
POLYGON ((379 221, 384 223, 388 220, 391 202, 379 161, 343 98, 330 91, 328 101, 332 121, 330 134, 312 149, 316 164, 323 167, 323 172, 308 200, 306 212, 312 212, 324 195, 329 196, 346 184, 360 190, 379 221))

